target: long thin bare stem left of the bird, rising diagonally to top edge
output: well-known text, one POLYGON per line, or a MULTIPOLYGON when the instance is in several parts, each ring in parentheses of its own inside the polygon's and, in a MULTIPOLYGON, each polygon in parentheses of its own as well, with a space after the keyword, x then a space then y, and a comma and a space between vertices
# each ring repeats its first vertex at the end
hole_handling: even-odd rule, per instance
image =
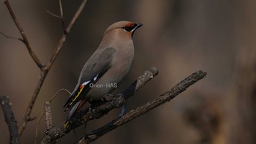
POLYGON ((40 80, 37 83, 37 88, 34 91, 33 96, 31 97, 31 101, 29 102, 29 106, 26 110, 23 123, 20 126, 20 130, 19 130, 20 135, 23 133, 24 129, 26 128, 26 124, 30 120, 31 112, 32 112, 32 109, 34 107, 34 102, 36 101, 37 96, 39 94, 39 91, 42 87, 42 84, 45 81, 45 77, 48 75, 48 72, 49 72, 50 68, 53 66, 53 62, 56 60, 57 56, 59 55, 59 52, 60 52, 61 48, 63 47, 64 42, 66 41, 67 35, 70 32, 70 29, 72 29, 72 26, 74 25, 75 21, 78 19, 80 13, 83 11, 83 8, 86 5, 86 1, 87 0, 83 0, 82 3, 80 4, 80 7, 78 8, 77 12, 75 13, 74 17, 72 18, 71 22, 69 23, 69 26, 66 29, 66 33, 64 33, 61 36, 61 39, 59 39, 59 43, 58 43, 58 45, 56 46, 56 49, 53 52, 53 56, 50 58, 50 61, 48 62, 47 66, 44 69, 42 69, 42 72, 41 72, 41 75, 40 75, 40 80))

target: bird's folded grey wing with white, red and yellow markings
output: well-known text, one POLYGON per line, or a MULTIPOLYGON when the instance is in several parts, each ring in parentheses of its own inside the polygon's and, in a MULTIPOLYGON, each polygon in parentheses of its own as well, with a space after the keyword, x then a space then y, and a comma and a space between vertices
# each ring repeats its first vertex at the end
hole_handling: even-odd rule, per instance
MULTIPOLYGON (((71 96, 65 103, 65 111, 72 107, 76 109, 75 106, 83 96, 86 96, 86 93, 91 89, 90 84, 96 83, 97 80, 108 71, 111 67, 111 62, 113 60, 113 54, 116 52, 114 48, 105 48, 105 50, 97 50, 89 58, 86 64, 83 66, 82 72, 78 80, 78 84, 72 92, 71 96)), ((72 110, 72 111, 75 111, 72 110)))

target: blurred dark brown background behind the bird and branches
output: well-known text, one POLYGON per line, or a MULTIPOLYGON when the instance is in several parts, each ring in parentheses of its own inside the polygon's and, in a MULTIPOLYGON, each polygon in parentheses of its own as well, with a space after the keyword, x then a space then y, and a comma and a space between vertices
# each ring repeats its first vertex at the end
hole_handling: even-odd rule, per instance
MULTIPOLYGON (((47 63, 61 37, 61 22, 49 15, 59 13, 58 1, 10 1, 31 46, 47 63)), ((80 1, 63 1, 65 24, 80 1)), ((64 48, 53 64, 39 93, 32 116, 43 111, 60 88, 75 87, 80 69, 99 45, 110 24, 118 20, 143 23, 136 31, 135 63, 123 90, 149 67, 159 75, 129 100, 129 110, 145 104, 199 69, 205 79, 161 107, 106 134, 98 143, 256 143, 256 1, 222 0, 140 0, 88 1, 71 30, 64 48)), ((4 1, 0 4, 0 31, 20 37, 4 1)), ((39 69, 25 45, 0 35, 0 94, 10 96, 20 126, 39 80, 39 69)), ((53 100, 53 122, 67 117, 62 106, 68 95, 53 100)), ((0 110, 1 111, 1 110, 0 110)), ((88 131, 102 126, 118 115, 110 113, 89 122, 88 131)), ((34 143, 36 121, 29 122, 22 143, 34 143)), ((0 112, 0 143, 9 134, 0 112)), ((44 120, 39 140, 45 132, 44 120)), ((83 126, 76 129, 83 135, 83 126)), ((59 143, 73 143, 70 132, 59 143)))

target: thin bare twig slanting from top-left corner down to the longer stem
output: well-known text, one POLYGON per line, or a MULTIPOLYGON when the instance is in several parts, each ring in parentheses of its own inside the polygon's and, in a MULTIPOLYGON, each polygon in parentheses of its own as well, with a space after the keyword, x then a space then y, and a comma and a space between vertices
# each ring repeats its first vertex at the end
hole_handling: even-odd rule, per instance
POLYGON ((17 26, 18 30, 20 31, 21 36, 23 37, 23 42, 26 45, 26 48, 29 50, 30 56, 33 58, 34 62, 37 64, 37 66, 42 69, 44 67, 44 64, 37 58, 37 55, 34 53, 34 51, 31 49, 31 46, 29 44, 29 39, 27 39, 25 32, 23 31, 22 27, 20 26, 20 23, 18 22, 18 19, 16 18, 14 12, 12 11, 12 7, 10 6, 10 3, 8 0, 4 1, 4 4, 6 4, 7 9, 10 12, 10 15, 12 16, 12 20, 15 22, 15 25, 17 26))

